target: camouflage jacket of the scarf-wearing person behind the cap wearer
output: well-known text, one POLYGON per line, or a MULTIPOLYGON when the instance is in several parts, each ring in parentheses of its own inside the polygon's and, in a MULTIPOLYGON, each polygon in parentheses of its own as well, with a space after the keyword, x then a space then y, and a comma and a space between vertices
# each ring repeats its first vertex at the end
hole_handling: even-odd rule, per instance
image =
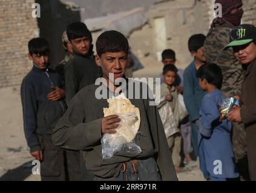
POLYGON ((232 28, 234 27, 227 23, 215 25, 209 31, 203 45, 203 54, 207 61, 217 64, 222 69, 222 92, 228 97, 240 94, 243 75, 241 63, 234 56, 232 48, 223 51, 229 43, 229 33, 232 28))

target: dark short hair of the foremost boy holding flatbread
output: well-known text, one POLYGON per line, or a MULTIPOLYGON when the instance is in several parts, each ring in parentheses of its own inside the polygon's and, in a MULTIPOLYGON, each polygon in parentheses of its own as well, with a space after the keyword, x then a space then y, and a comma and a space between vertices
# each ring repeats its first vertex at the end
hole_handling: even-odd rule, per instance
POLYGON ((120 52, 128 54, 129 43, 125 36, 118 31, 105 31, 97 38, 96 50, 99 57, 105 52, 120 52))

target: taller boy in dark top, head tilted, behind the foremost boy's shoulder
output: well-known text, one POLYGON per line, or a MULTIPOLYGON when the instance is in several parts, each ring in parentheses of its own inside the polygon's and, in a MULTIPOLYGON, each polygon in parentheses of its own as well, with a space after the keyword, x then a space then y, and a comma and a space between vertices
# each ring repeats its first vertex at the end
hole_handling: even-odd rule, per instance
POLYGON ((67 36, 73 48, 73 59, 65 66, 65 93, 67 104, 85 86, 93 84, 101 75, 93 55, 93 41, 90 31, 82 22, 67 27, 67 36))

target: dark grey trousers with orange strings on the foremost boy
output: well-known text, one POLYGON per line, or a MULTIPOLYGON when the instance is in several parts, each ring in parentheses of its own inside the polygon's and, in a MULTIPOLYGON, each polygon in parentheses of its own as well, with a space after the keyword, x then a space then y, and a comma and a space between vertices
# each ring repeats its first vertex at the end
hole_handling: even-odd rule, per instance
POLYGON ((123 163, 117 177, 103 179, 94 177, 94 181, 161 181, 156 160, 151 157, 145 160, 130 160, 123 163))

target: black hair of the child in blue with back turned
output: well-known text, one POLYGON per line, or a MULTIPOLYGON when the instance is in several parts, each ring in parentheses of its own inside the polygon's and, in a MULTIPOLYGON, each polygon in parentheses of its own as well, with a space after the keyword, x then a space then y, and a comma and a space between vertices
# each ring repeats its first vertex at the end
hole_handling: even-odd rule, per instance
POLYGON ((220 69, 220 67, 214 63, 206 62, 205 65, 202 65, 197 70, 196 76, 201 80, 206 79, 209 84, 215 85, 218 89, 222 88, 222 69, 220 69))

